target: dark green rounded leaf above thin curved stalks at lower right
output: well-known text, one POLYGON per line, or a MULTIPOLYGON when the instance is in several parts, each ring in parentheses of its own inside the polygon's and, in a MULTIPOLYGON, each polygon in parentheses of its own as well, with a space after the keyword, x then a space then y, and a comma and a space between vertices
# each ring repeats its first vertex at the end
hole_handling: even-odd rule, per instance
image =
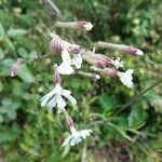
POLYGON ((129 126, 131 129, 138 129, 147 118, 147 113, 143 108, 134 107, 127 117, 129 126))

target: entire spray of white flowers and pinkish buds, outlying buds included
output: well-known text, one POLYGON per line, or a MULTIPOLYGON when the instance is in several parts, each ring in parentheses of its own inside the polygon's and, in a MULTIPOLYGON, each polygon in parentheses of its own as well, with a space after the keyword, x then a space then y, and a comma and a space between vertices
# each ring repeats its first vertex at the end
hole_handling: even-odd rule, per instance
MULTIPOLYGON (((90 22, 78 21, 78 22, 57 22, 56 27, 64 27, 78 30, 91 30, 93 25, 90 22)), ((75 122, 66 110, 68 100, 71 105, 77 104, 77 99, 71 95, 69 90, 62 87, 62 77, 60 75, 72 75, 76 69, 81 69, 83 60, 89 63, 90 71, 78 71, 78 75, 82 75, 86 78, 99 79, 100 76, 106 77, 117 77, 120 81, 127 87, 133 86, 133 69, 127 69, 123 71, 124 63, 120 57, 111 58, 104 54, 95 53, 95 50, 87 51, 79 44, 70 43, 62 39, 58 35, 54 32, 49 32, 51 38, 50 50, 53 53, 60 53, 62 63, 54 65, 54 87, 44 95, 41 100, 41 107, 49 107, 49 109, 57 108, 58 112, 65 116, 65 121, 70 130, 70 135, 65 139, 63 146, 75 146, 82 141, 91 135, 92 130, 81 130, 77 131, 75 127, 75 122), (95 72, 94 72, 95 71, 95 72)), ((111 50, 117 50, 122 53, 129 53, 131 55, 143 55, 143 51, 124 44, 114 44, 108 42, 97 42, 97 48, 107 48, 111 50)), ((17 75, 18 65, 22 63, 22 58, 11 68, 11 76, 17 75)), ((76 70, 77 71, 77 70, 76 70)))

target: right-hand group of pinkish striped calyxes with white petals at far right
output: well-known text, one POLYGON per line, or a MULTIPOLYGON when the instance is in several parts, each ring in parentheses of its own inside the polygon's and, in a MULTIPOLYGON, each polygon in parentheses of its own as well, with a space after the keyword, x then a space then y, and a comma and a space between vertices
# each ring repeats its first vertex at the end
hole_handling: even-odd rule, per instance
POLYGON ((94 54, 91 51, 84 53, 83 58, 92 65, 91 69, 99 72, 106 77, 119 77, 120 81, 127 87, 133 86, 133 69, 129 69, 125 72, 119 70, 123 67, 123 62, 120 57, 112 59, 103 54, 94 54), (111 68, 113 66, 114 68, 111 68))

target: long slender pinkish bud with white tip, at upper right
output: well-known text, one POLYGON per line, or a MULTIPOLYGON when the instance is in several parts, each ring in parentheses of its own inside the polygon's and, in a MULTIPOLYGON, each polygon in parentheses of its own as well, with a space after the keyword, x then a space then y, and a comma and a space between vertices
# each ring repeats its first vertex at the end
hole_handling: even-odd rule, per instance
POLYGON ((144 52, 139 49, 136 49, 131 45, 124 45, 124 44, 113 44, 113 43, 108 43, 108 42, 97 42, 97 45, 100 48, 107 48, 107 49, 112 49, 112 50, 118 50, 123 53, 129 53, 132 55, 144 55, 144 52))

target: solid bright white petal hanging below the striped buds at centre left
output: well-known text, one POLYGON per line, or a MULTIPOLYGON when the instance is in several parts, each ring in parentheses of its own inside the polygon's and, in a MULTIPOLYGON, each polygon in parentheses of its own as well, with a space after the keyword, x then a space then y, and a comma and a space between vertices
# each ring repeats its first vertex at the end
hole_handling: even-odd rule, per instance
POLYGON ((57 71, 60 75, 71 75, 73 72, 73 68, 71 67, 71 58, 66 49, 62 52, 62 64, 58 66, 57 71))

